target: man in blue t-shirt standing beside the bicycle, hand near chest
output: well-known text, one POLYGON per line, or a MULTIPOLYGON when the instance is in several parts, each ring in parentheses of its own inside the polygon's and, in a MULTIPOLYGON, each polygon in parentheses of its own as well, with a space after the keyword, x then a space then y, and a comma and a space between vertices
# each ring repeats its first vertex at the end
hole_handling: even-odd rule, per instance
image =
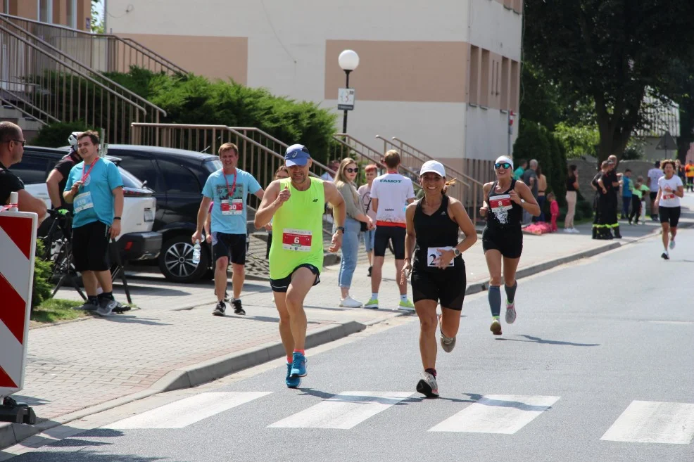
POLYGON ((72 257, 82 273, 88 300, 81 309, 110 316, 122 305, 113 299, 108 241, 120 234, 123 212, 123 180, 118 167, 99 158, 99 134, 84 131, 77 138, 82 162, 70 169, 63 198, 72 204, 72 257), (96 295, 99 281, 103 293, 96 295))

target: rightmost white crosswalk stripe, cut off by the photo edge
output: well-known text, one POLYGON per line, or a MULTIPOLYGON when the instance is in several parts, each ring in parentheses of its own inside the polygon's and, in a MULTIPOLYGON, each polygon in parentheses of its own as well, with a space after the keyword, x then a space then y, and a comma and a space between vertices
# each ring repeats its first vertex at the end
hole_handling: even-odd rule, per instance
POLYGON ((689 444, 694 436, 694 404, 632 401, 604 441, 689 444))

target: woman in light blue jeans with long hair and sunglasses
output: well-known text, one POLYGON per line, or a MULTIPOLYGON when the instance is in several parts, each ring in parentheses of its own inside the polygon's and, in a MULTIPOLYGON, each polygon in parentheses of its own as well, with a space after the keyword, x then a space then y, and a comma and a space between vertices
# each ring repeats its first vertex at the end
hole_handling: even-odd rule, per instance
POLYGON ((340 271, 337 278, 341 292, 340 306, 346 308, 359 308, 362 306, 362 302, 353 299, 349 295, 349 288, 352 285, 352 276, 357 267, 361 224, 366 224, 367 230, 374 229, 372 219, 362 212, 359 193, 354 184, 358 174, 359 167, 357 163, 350 158, 345 158, 340 162, 335 176, 335 186, 342 195, 347 210, 344 225, 345 231, 342 236, 342 258, 340 259, 340 271))

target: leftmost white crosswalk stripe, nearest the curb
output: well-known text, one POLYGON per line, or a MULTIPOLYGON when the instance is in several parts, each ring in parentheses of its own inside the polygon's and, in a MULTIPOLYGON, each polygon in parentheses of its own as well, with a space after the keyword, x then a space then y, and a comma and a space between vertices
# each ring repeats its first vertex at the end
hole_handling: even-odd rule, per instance
POLYGON ((126 430, 132 428, 184 428, 217 413, 227 411, 241 404, 264 397, 271 392, 217 392, 201 393, 179 399, 151 409, 137 416, 132 416, 105 425, 105 428, 126 430))

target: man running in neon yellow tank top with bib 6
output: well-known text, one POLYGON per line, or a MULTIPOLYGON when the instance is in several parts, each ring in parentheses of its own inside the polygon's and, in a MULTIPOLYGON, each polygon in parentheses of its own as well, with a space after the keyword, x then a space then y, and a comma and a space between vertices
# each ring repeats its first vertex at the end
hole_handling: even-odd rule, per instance
POLYGON ((301 385, 306 376, 306 314, 303 300, 320 282, 323 267, 323 210, 329 203, 337 226, 330 252, 342 245, 346 219, 345 203, 332 181, 309 177, 312 160, 301 144, 286 148, 284 165, 288 179, 272 181, 255 213, 255 228, 272 220, 270 287, 279 311, 279 336, 286 352, 289 388, 301 385))

